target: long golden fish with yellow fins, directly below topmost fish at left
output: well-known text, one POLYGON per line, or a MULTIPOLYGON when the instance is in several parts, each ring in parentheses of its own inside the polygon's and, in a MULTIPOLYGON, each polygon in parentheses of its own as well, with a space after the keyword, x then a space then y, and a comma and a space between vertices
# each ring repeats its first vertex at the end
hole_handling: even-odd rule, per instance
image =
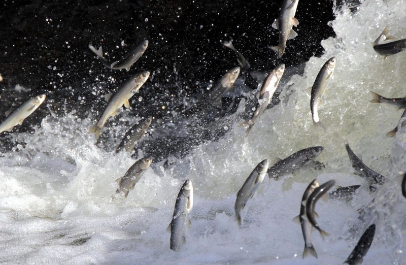
POLYGON ((110 116, 116 115, 117 111, 121 106, 125 106, 127 109, 130 107, 129 99, 138 92, 141 86, 147 81, 149 77, 149 72, 144 71, 138 73, 136 76, 132 77, 126 81, 120 89, 113 95, 105 95, 105 99, 108 102, 108 105, 103 112, 103 115, 98 119, 95 125, 89 129, 89 133, 94 133, 96 139, 100 135, 101 129, 105 125, 107 119, 110 116))

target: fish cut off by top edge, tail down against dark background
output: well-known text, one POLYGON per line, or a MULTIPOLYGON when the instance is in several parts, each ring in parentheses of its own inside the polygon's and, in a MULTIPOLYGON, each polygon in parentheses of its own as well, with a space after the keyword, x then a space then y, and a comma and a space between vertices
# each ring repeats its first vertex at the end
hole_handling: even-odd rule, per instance
POLYGON ((294 18, 298 3, 299 0, 284 0, 279 18, 275 19, 272 24, 273 28, 279 29, 279 44, 271 49, 277 52, 279 57, 282 57, 285 52, 286 41, 297 36, 293 26, 296 27, 299 24, 299 21, 294 18))

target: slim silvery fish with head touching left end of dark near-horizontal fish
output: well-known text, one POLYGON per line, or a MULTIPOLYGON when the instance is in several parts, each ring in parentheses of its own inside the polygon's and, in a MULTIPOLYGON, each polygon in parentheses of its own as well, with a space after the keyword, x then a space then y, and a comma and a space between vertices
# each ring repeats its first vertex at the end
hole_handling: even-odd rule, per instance
POLYGON ((262 160, 248 176, 241 189, 237 192, 234 211, 235 219, 238 225, 241 226, 241 211, 244 210, 248 200, 254 196, 255 191, 259 188, 265 177, 269 163, 267 159, 262 160))

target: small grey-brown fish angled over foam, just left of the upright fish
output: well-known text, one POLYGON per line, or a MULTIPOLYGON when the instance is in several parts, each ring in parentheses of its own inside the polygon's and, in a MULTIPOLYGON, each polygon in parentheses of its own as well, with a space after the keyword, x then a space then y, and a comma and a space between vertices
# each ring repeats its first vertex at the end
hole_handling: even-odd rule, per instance
POLYGON ((118 183, 116 193, 123 194, 124 197, 127 197, 128 192, 134 189, 134 186, 136 186, 136 183, 141 179, 151 163, 152 158, 147 157, 139 159, 133 165, 131 165, 124 176, 116 179, 116 182, 118 183))

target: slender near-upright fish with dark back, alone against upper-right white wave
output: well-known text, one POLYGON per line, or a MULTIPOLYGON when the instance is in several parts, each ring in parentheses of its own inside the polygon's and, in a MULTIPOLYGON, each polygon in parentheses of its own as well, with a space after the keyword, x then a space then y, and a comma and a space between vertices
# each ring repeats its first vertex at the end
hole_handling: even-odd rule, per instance
POLYGON ((328 59, 323 67, 320 69, 319 74, 314 81, 312 87, 307 89, 307 92, 310 92, 310 110, 312 112, 313 123, 316 125, 320 125, 323 128, 323 124, 320 122, 318 108, 321 101, 321 97, 325 93, 327 89, 327 85, 333 76, 334 68, 335 68, 335 57, 331 57, 328 59))

